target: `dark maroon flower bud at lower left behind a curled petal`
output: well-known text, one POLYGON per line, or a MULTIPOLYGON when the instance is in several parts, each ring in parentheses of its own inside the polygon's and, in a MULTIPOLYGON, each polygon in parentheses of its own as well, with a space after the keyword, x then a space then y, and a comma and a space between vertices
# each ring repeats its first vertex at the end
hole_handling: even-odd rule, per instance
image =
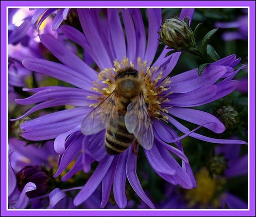
POLYGON ((26 186, 28 182, 33 182, 36 185, 36 189, 31 192, 27 192, 26 195, 29 198, 37 197, 46 194, 48 191, 48 182, 50 180, 48 173, 45 169, 39 166, 26 166, 17 173, 17 187, 20 192, 26 186))

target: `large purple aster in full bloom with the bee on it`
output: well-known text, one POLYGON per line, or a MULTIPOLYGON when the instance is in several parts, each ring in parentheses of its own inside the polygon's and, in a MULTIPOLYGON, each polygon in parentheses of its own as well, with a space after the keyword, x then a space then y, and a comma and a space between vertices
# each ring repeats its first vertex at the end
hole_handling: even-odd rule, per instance
MULTIPOLYGON (((27 58, 22 61, 23 65, 30 70, 48 74, 76 87, 48 86, 32 90, 25 88, 24 91, 33 92, 34 95, 27 99, 16 100, 18 104, 23 105, 38 103, 22 117, 43 108, 60 105, 74 106, 21 125, 22 136, 26 139, 40 141, 55 138, 54 149, 60 154, 59 168, 55 177, 59 176, 73 159, 76 159, 72 169, 61 178, 63 181, 68 180, 80 170, 88 173, 91 170, 91 164, 95 161, 99 162, 83 189, 75 197, 74 205, 83 203, 102 183, 101 207, 107 204, 113 186, 115 201, 118 207, 124 208, 127 205, 125 188, 128 179, 136 194, 148 207, 154 208, 149 197, 143 192, 136 174, 136 153, 139 145, 130 145, 121 154, 107 155, 104 145, 104 123, 98 122, 97 125, 92 120, 91 124, 95 125, 91 127, 95 132, 88 133, 91 135, 84 135, 81 132, 82 126, 83 131, 90 129, 90 125, 86 125, 84 119, 91 111, 97 111, 93 108, 106 98, 111 99, 111 94, 115 90, 116 73, 124 69, 128 68, 129 73, 138 73, 140 82, 143 84, 143 90, 145 90, 143 97, 146 104, 141 106, 145 111, 143 117, 147 117, 149 123, 147 137, 150 139, 141 137, 136 131, 140 127, 136 125, 130 131, 133 131, 137 139, 139 137, 139 142, 142 141, 143 151, 149 164, 164 180, 186 189, 196 187, 188 158, 180 143, 180 139, 186 136, 212 143, 246 144, 243 141, 199 135, 195 131, 200 127, 215 133, 222 133, 225 127, 213 115, 188 108, 210 103, 235 90, 237 81, 232 79, 240 70, 239 68, 235 71, 233 68, 240 61, 235 55, 211 63, 204 69, 201 76, 198 76, 197 69, 193 69, 169 78, 168 75, 175 67, 180 53, 164 58, 168 52, 165 47, 154 61, 158 49, 157 31, 161 25, 160 9, 147 9, 147 43, 146 30, 139 9, 107 9, 107 18, 103 20, 99 16, 99 9, 77 9, 77 11, 84 33, 67 25, 63 25, 61 30, 68 39, 86 49, 100 72, 89 67, 57 39, 43 34, 40 35, 41 42, 61 63, 27 58), (122 15, 125 35, 119 12, 122 15), (199 126, 189 130, 174 117, 199 126), (179 137, 167 123, 171 123, 185 134, 179 137), (151 145, 147 146, 145 141, 149 141, 151 145), (176 144, 177 148, 169 143, 176 144), (172 154, 181 159, 182 165, 172 154)), ((186 15, 191 20, 193 11, 193 9, 183 9, 180 18, 184 19, 186 15)), ((129 115, 132 116, 133 113, 129 112, 129 115)))

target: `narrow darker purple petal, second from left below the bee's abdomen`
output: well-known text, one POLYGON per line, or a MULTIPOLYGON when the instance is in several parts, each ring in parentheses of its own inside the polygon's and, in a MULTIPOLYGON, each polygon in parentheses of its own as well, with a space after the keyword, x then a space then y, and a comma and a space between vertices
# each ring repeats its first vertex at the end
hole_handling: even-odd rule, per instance
POLYGON ((117 166, 117 161, 118 157, 115 156, 113 163, 111 164, 108 173, 104 176, 102 180, 102 201, 101 201, 101 208, 104 208, 108 201, 109 201, 109 196, 111 192, 111 188, 114 182, 114 176, 115 176, 115 171, 116 171, 116 166, 117 166))

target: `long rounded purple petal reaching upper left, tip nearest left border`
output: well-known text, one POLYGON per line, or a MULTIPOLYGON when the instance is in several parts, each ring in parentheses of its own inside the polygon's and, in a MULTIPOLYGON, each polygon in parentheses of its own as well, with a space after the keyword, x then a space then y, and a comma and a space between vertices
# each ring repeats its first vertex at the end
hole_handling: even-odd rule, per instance
POLYGON ((86 78, 85 75, 81 75, 73 69, 57 62, 36 58, 26 58, 22 61, 22 64, 31 71, 47 74, 82 89, 89 90, 92 86, 91 80, 86 78))

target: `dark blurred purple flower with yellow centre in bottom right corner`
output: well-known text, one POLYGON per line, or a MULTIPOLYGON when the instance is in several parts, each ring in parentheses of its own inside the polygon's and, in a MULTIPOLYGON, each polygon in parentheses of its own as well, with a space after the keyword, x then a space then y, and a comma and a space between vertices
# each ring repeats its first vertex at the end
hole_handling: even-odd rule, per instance
POLYGON ((177 190, 167 183, 165 196, 167 200, 160 203, 157 208, 218 208, 246 209, 247 202, 223 188, 231 178, 247 176, 248 155, 241 155, 241 146, 236 144, 218 145, 215 148, 216 156, 222 156, 227 162, 227 169, 223 176, 210 177, 206 168, 196 173, 198 187, 191 190, 177 190))

